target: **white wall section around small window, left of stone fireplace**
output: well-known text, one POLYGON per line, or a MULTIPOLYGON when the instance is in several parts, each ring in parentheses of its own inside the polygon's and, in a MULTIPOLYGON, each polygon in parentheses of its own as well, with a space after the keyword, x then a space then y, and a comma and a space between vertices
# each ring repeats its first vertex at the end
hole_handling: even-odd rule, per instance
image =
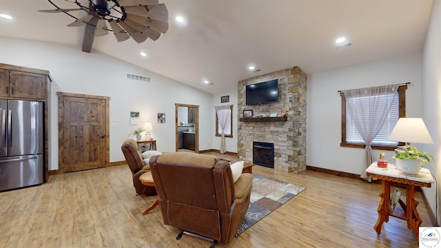
MULTIPOLYGON (((213 114, 212 114, 212 137, 213 137, 213 143, 211 146, 213 149, 220 149, 220 137, 215 136, 216 134, 216 110, 214 109, 214 106, 220 106, 220 105, 233 105, 233 138, 227 138, 225 137, 225 141, 227 142, 227 152, 234 152, 237 153, 237 122, 238 122, 238 107, 237 107, 237 90, 233 90, 231 92, 223 92, 221 94, 215 94, 213 96, 213 114), (220 103, 220 96, 229 96, 229 103, 220 103)), ((201 149, 201 143, 199 143, 199 149, 201 149)), ((204 147, 204 149, 206 149, 204 147)))

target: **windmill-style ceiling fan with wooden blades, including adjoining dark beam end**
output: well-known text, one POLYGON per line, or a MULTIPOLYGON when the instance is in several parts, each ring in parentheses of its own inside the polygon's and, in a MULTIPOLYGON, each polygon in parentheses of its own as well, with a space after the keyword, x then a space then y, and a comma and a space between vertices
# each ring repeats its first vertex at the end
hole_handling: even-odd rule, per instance
POLYGON ((65 0, 76 3, 79 8, 59 8, 51 0, 55 10, 39 10, 40 12, 63 12, 75 21, 68 27, 86 25, 83 39, 83 52, 90 52, 94 37, 100 37, 112 31, 116 41, 121 42, 132 37, 137 43, 150 38, 156 41, 161 33, 168 30, 168 10, 164 3, 158 0, 88 0, 84 6, 79 0, 65 0), (83 10, 87 14, 76 18, 69 12, 83 10), (109 23, 111 29, 107 27, 109 23))

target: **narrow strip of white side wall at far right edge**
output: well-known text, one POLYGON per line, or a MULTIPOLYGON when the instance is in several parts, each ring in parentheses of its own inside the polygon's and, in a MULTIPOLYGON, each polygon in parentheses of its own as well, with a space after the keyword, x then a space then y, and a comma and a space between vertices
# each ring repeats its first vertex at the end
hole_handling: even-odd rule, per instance
MULTIPOLYGON (((432 136, 433 145, 423 145, 422 151, 430 152, 434 163, 424 165, 441 182, 441 0, 433 1, 429 30, 423 50, 422 70, 422 117, 432 136)), ((435 184, 423 188, 433 213, 436 208, 435 184)), ((438 185, 438 191, 441 187, 438 185)), ((438 203, 440 205, 440 203, 438 203)), ((438 211, 440 208, 438 207, 438 211)), ((440 214, 438 214, 439 218, 440 214)), ((438 221, 439 223, 439 221, 438 221)))

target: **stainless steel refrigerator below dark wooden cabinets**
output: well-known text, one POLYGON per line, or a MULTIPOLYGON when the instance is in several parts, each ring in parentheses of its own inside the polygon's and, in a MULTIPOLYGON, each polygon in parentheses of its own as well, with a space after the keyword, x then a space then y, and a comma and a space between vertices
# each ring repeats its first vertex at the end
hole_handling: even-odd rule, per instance
POLYGON ((0 191, 43 183, 43 103, 0 99, 0 191))

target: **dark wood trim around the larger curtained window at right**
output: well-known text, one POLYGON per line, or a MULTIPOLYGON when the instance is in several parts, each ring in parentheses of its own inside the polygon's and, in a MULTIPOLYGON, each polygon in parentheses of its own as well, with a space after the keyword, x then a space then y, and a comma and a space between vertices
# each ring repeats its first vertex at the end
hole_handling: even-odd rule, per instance
MULTIPOLYGON (((398 118, 406 117, 406 85, 398 86, 398 118)), ((342 99, 342 141, 340 143, 340 147, 353 147, 353 148, 363 148, 365 149, 366 145, 357 145, 353 143, 346 142, 346 97, 343 92, 340 92, 340 96, 342 99)), ((399 142, 398 145, 404 145, 403 142, 399 142)), ((371 145, 372 149, 382 149, 393 151, 396 149, 396 146, 386 146, 386 145, 371 145)))

